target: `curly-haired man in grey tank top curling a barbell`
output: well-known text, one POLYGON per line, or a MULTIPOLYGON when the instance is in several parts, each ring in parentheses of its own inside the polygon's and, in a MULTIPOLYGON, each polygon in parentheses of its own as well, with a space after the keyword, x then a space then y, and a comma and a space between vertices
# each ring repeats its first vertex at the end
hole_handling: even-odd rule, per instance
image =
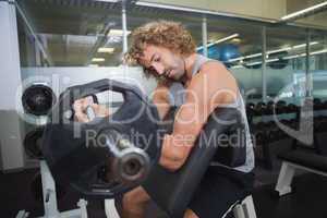
MULTIPOLYGON (((216 107, 238 107, 242 112, 247 131, 245 164, 238 168, 209 167, 184 214, 184 218, 222 217, 253 183, 253 148, 235 78, 220 62, 196 53, 191 34, 175 22, 152 22, 136 28, 126 59, 158 80, 153 101, 161 118, 172 106, 179 107, 173 131, 165 135, 159 160, 168 170, 175 171, 184 165, 196 136, 216 107)), ((80 106, 75 106, 77 111, 82 111, 80 106)), ((142 186, 125 193, 122 217, 144 217, 149 199, 142 186)))

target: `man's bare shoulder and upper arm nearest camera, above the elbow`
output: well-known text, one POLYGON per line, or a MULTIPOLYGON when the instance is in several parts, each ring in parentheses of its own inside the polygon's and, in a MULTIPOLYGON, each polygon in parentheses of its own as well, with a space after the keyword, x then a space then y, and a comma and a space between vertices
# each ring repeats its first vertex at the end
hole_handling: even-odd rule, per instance
POLYGON ((187 137, 186 144, 192 145, 215 108, 234 101, 237 93, 235 80, 223 65, 205 64, 186 89, 185 104, 175 117, 173 135, 187 137))

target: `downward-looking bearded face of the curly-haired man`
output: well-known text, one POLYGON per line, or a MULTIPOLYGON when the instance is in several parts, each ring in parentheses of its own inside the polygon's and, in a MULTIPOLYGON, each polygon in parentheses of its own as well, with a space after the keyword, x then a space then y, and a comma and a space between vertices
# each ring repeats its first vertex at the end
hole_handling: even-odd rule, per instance
POLYGON ((148 45, 143 51, 141 64, 150 69, 157 76, 180 80, 184 73, 184 60, 180 55, 158 46, 148 45))

